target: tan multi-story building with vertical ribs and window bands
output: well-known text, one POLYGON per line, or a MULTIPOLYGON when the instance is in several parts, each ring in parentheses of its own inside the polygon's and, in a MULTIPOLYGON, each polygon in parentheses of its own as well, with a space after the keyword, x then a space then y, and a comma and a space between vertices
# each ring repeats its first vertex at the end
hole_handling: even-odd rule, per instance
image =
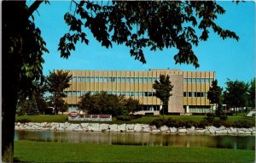
POLYGON ((204 113, 211 109, 207 92, 215 79, 214 71, 183 71, 172 69, 138 70, 69 70, 73 75, 71 86, 65 90, 70 110, 76 110, 79 97, 106 91, 139 99, 143 104, 138 113, 160 113, 161 102, 154 96, 153 84, 160 75, 169 75, 172 96, 169 113, 204 113))

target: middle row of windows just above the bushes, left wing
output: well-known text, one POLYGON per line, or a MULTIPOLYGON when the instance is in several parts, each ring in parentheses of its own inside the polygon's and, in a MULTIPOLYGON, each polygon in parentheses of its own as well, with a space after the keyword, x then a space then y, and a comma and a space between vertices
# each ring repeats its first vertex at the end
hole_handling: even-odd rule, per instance
MULTIPOLYGON (((89 91, 64 91, 64 93, 67 94, 67 96, 82 96, 85 93, 89 93, 89 91)), ((90 94, 96 94, 100 93, 99 91, 90 91, 90 94)), ((126 97, 152 97, 155 96, 154 92, 110 92, 107 91, 108 94, 114 94, 114 95, 125 95, 126 97)))

